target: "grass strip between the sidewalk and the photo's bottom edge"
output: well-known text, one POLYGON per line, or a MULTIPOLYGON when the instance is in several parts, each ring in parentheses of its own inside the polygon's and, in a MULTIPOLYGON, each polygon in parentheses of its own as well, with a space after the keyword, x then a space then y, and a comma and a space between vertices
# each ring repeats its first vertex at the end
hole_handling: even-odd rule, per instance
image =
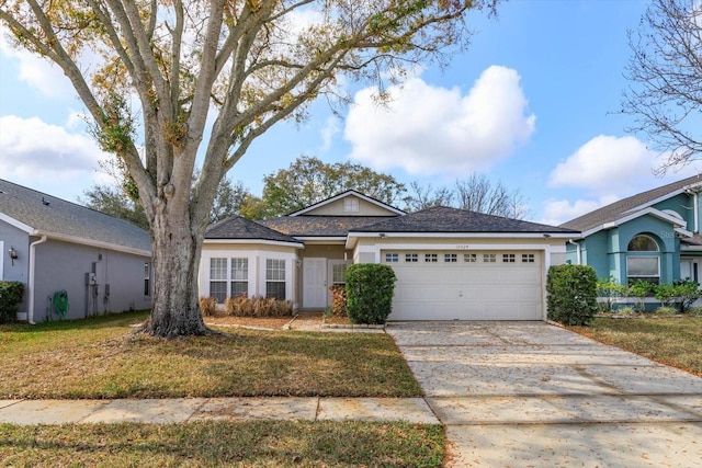
POLYGON ((440 425, 367 422, 0 424, 13 467, 439 467, 440 425))

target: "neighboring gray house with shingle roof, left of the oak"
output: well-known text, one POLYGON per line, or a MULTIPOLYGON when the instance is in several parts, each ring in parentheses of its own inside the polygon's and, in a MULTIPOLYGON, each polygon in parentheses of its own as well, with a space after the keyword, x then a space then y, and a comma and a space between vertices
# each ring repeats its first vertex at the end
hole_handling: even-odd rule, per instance
POLYGON ((147 231, 0 179, 0 279, 24 283, 19 320, 67 319, 148 309, 151 247, 147 231))

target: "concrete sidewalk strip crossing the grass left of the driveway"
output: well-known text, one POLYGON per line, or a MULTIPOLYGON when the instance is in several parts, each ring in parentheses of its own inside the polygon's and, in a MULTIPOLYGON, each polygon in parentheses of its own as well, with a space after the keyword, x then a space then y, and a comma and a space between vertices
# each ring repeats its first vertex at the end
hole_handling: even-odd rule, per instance
POLYGON ((421 398, 0 400, 0 423, 182 423, 204 420, 407 421, 439 424, 421 398))

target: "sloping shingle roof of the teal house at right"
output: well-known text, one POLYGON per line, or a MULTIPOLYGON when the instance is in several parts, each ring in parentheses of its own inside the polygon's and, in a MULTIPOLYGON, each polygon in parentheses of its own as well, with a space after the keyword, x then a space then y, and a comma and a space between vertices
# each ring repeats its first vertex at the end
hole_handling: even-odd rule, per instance
POLYGON ((620 199, 619 202, 614 202, 564 222, 561 227, 587 231, 607 222, 615 221, 625 214, 632 214, 637 209, 643 209, 652 202, 695 183, 702 183, 702 176, 700 176, 700 174, 620 199))

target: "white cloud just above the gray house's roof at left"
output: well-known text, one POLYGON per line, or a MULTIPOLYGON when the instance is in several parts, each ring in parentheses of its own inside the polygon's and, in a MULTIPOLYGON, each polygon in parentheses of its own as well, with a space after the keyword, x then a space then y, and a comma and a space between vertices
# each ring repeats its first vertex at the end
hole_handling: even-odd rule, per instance
POLYGON ((87 135, 41 119, 0 117, 0 174, 3 179, 75 201, 93 181, 106 155, 87 135))

